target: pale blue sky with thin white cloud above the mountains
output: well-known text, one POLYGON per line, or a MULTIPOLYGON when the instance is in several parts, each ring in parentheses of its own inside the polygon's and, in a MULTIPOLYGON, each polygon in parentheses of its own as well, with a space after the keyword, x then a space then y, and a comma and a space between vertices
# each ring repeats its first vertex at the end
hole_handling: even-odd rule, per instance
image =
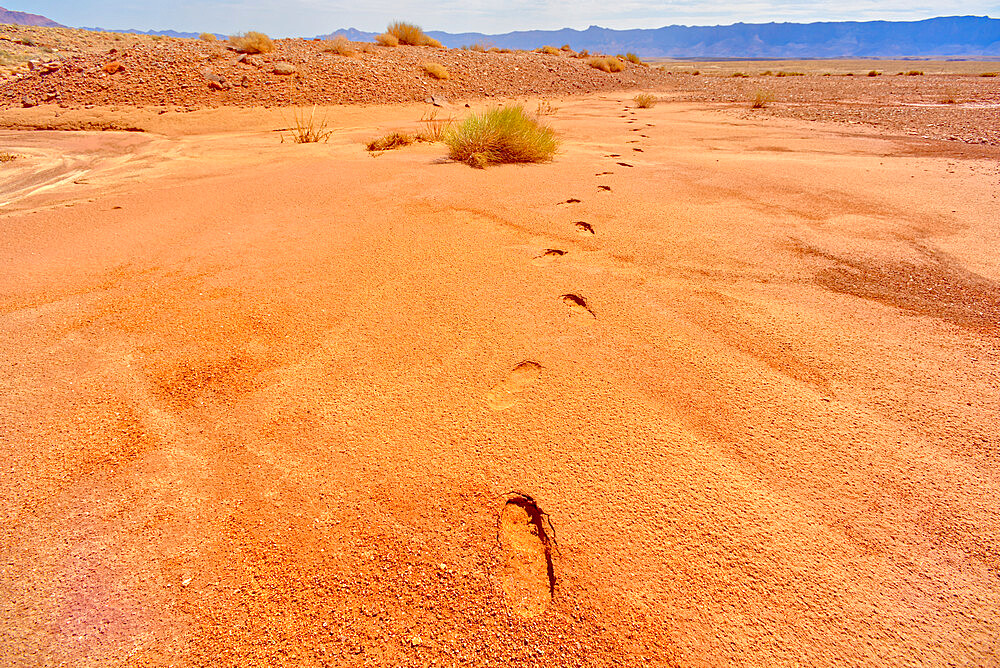
POLYGON ((918 20, 1000 17, 1000 0, 6 0, 70 26, 311 37, 337 28, 381 31, 401 19, 425 30, 501 33, 552 28, 658 28, 675 23, 918 20))

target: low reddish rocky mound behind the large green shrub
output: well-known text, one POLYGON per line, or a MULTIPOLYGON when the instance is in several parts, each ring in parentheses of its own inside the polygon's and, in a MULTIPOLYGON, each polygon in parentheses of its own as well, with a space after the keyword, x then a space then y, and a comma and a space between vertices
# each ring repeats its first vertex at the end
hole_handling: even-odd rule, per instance
POLYGON ((327 51, 329 42, 285 39, 268 54, 243 55, 225 43, 190 39, 132 42, 101 53, 42 63, 13 77, 0 104, 284 106, 385 104, 444 98, 590 93, 662 86, 664 72, 627 64, 609 74, 560 52, 481 53, 431 47, 327 51), (438 80, 424 64, 444 65, 438 80))

